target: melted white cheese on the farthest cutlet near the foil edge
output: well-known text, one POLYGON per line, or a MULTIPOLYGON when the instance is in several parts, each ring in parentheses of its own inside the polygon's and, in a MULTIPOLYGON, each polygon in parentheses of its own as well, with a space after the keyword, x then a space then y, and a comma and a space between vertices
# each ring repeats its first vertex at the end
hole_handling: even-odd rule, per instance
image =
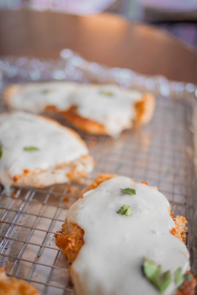
POLYGON ((139 91, 123 90, 117 85, 92 85, 68 82, 32 83, 22 86, 12 96, 10 104, 16 109, 44 112, 54 105, 59 111, 77 106, 77 113, 106 127, 116 136, 132 127, 136 116, 134 103, 141 99, 139 91), (110 95, 108 95, 110 94, 110 95))

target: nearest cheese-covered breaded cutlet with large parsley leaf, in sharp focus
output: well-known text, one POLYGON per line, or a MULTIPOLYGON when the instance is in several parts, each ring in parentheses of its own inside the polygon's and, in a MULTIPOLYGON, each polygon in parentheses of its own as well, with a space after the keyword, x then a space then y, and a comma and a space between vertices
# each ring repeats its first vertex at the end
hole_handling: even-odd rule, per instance
POLYGON ((68 210, 56 245, 77 295, 194 295, 187 221, 157 188, 100 175, 68 210))

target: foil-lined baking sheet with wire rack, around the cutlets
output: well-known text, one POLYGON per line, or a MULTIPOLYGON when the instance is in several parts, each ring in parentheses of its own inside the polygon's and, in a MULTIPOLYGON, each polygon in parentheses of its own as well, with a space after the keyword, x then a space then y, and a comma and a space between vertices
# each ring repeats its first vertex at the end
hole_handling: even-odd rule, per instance
MULTIPOLYGON (((196 86, 106 68, 68 49, 61 52, 58 62, 5 57, 0 60, 0 70, 1 89, 13 81, 66 79, 82 83, 112 81, 156 95, 152 122, 142 129, 124 131, 118 139, 78 130, 96 162, 86 179, 72 186, 15 188, 11 195, 1 188, 0 267, 6 267, 10 276, 29 281, 43 295, 74 294, 67 272, 69 263, 56 247, 54 234, 61 229, 68 208, 99 173, 118 173, 157 186, 167 196, 174 214, 188 219, 186 245, 196 271, 197 182, 192 125, 196 86)), ((6 110, 2 100, 0 110, 6 110)))

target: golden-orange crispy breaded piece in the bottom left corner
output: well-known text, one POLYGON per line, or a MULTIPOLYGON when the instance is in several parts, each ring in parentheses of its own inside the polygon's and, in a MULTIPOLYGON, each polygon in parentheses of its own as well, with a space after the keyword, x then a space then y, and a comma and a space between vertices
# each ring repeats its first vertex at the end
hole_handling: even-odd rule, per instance
POLYGON ((0 268, 0 295, 40 295, 26 281, 6 276, 4 268, 0 268))

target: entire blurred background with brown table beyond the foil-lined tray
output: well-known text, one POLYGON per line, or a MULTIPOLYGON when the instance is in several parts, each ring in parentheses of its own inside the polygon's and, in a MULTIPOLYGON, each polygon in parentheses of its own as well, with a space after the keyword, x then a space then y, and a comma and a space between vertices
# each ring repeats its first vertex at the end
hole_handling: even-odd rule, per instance
POLYGON ((196 0, 1 0, 0 55, 87 60, 197 83, 196 0))

